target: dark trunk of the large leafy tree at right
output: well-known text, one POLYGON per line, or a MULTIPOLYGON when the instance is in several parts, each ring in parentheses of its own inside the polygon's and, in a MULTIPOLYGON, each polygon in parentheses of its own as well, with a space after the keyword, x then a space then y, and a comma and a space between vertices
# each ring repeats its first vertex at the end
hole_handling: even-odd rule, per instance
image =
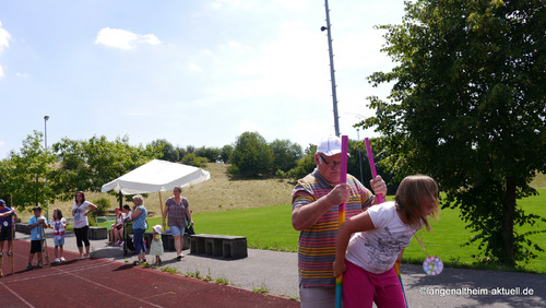
POLYGON ((502 263, 514 266, 513 251, 513 220, 515 213, 515 179, 508 178, 505 198, 502 200, 502 245, 506 256, 501 259, 502 263))

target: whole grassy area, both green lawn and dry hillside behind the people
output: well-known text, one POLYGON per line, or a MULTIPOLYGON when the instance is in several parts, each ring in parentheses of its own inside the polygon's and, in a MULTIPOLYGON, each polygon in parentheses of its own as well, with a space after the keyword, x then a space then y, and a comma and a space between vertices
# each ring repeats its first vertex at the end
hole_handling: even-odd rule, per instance
MULTIPOLYGON (((209 164, 205 169, 211 173, 211 180, 186 188, 182 192, 190 201, 197 233, 246 236, 251 248, 297 250, 298 232, 292 227, 289 204, 294 183, 280 179, 232 180, 224 164, 209 164)), ((529 213, 546 217, 546 176, 538 175, 531 186, 541 194, 521 200, 519 204, 529 213)), ((162 202, 165 203, 169 196, 171 192, 163 192, 162 202)), ((112 208, 117 204, 116 199, 107 193, 86 193, 86 197, 87 200, 106 197, 112 208)), ((66 216, 70 216, 72 202, 57 202, 50 209, 61 209, 66 216)), ((159 194, 150 194, 145 206, 156 213, 149 224, 161 223, 159 194)), ((20 213, 20 216, 27 222, 29 213, 20 213)), ((431 220, 431 226, 432 233, 418 233, 423 235, 429 254, 440 257, 450 266, 476 266, 471 254, 478 252, 477 245, 461 247, 472 234, 459 218, 458 210, 442 210, 440 220, 431 220)), ((546 229, 546 225, 538 223, 519 232, 531 229, 546 229)), ((546 249, 544 235, 534 235, 531 239, 546 249)), ((422 263, 425 257, 414 239, 405 250, 404 262, 422 263)), ((538 258, 525 264, 524 270, 546 273, 546 252, 538 253, 538 258)))

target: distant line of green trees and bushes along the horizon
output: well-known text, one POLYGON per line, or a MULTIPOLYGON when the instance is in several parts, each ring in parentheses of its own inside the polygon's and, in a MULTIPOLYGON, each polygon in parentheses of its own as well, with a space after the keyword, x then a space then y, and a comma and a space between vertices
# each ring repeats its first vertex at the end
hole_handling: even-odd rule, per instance
MULTIPOLYGON (((0 198, 12 199, 20 209, 46 206, 57 199, 71 200, 78 190, 99 192, 104 183, 154 158, 197 167, 204 167, 209 162, 229 164, 229 174, 237 178, 297 180, 313 170, 317 149, 309 144, 304 151, 289 140, 268 143, 258 132, 244 132, 233 145, 223 147, 174 146, 165 139, 133 146, 128 137, 114 141, 93 137, 90 140, 62 139, 45 149, 43 138, 41 132, 34 131, 23 141, 19 152, 12 151, 7 159, 0 161, 0 198)), ((371 175, 367 157, 361 154, 366 151, 361 147, 349 141, 347 169, 368 186, 371 175)), ((392 177, 383 171, 379 167, 378 173, 389 182, 392 177)), ((396 183, 390 185, 394 192, 396 183)), ((118 200, 121 203, 122 196, 118 194, 118 200)))

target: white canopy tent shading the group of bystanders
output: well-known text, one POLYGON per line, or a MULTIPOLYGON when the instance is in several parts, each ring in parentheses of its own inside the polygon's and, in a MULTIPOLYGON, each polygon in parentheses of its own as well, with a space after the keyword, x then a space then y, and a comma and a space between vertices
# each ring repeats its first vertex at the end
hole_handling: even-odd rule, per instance
POLYGON ((103 185, 102 192, 115 190, 123 194, 146 192, 159 193, 159 208, 163 212, 162 191, 173 190, 176 186, 190 186, 211 178, 211 174, 198 167, 153 159, 121 177, 103 185))

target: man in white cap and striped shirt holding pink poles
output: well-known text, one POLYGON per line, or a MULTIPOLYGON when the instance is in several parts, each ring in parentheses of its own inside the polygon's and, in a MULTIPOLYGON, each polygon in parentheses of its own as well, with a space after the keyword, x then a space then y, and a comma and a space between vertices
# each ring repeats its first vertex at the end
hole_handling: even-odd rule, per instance
MULTIPOLYGON (((292 225, 299 230, 298 268, 301 307, 334 307, 335 257, 339 205, 345 203, 346 218, 359 214, 379 200, 355 177, 340 183, 341 140, 321 140, 314 154, 317 168, 299 179, 292 193, 292 225)), ((387 185, 378 176, 370 181, 376 193, 387 196, 387 185)))

